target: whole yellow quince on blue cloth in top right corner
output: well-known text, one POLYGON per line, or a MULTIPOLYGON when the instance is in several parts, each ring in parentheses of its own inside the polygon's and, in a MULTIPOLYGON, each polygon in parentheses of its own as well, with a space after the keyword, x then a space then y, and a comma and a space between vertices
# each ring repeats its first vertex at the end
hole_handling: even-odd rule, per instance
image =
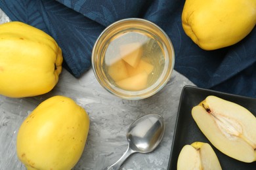
POLYGON ((241 41, 255 24, 255 0, 186 0, 182 11, 186 35, 204 50, 241 41))

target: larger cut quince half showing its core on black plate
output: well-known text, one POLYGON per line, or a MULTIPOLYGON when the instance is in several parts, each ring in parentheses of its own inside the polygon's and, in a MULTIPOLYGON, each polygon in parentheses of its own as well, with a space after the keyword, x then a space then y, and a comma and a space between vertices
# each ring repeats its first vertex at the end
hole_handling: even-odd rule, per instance
POLYGON ((256 118, 249 110, 209 95, 193 107, 192 117, 223 154, 247 163, 256 161, 256 118))

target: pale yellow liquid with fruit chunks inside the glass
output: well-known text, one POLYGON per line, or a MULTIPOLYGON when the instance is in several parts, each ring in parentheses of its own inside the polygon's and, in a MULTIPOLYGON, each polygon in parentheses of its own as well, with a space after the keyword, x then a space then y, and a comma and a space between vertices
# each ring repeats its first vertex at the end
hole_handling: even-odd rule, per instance
POLYGON ((163 73, 164 66, 163 47, 157 37, 140 31, 125 31, 108 41, 102 68, 109 82, 117 88, 138 91, 156 83, 163 73), (135 46, 131 44, 135 44, 135 46), (136 47, 137 44, 140 44, 139 47, 136 47), (124 50, 125 52, 123 52, 124 50), (126 58, 129 58, 127 60, 124 53, 127 54, 129 51, 131 51, 131 55, 126 56, 126 58), (142 61, 144 65, 140 64, 142 61), (138 69, 138 67, 140 68, 138 69), (133 74, 131 75, 132 69, 137 72, 132 71, 133 74), (144 73, 142 73, 142 70, 144 70, 144 73))

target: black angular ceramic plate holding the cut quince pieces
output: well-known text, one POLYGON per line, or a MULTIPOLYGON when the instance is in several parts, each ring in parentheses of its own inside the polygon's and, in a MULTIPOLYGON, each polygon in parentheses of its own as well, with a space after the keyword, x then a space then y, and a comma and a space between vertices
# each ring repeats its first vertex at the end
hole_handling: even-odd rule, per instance
MULTIPOLYGON (((202 88, 196 88, 194 86, 184 86, 181 93, 181 101, 177 114, 175 133, 173 136, 173 144, 171 148, 171 156, 168 166, 169 170, 177 169, 177 160, 179 157, 179 153, 181 152, 181 149, 185 144, 191 144, 195 141, 201 141, 211 144, 198 128, 191 114, 192 107, 198 105, 208 95, 215 95, 217 97, 221 97, 222 99, 238 103, 238 105, 242 105, 256 116, 256 99, 239 95, 231 95, 228 93, 216 92, 212 90, 205 90, 202 88)), ((230 158, 217 150, 212 144, 211 146, 213 147, 213 150, 215 150, 215 153, 219 158, 223 170, 256 169, 256 161, 254 161, 253 163, 244 163, 242 161, 234 160, 233 158, 230 158)))

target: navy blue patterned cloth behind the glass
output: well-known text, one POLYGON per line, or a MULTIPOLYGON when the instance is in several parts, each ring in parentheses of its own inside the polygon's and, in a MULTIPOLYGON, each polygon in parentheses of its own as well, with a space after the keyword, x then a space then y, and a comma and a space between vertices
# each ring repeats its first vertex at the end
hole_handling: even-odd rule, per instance
POLYGON ((91 68, 91 51, 103 29, 123 18, 144 18, 169 35, 175 70, 199 87, 256 97, 256 28, 242 41, 202 50, 184 33, 185 0, 0 0, 11 18, 49 33, 62 48, 64 67, 75 77, 91 68))

